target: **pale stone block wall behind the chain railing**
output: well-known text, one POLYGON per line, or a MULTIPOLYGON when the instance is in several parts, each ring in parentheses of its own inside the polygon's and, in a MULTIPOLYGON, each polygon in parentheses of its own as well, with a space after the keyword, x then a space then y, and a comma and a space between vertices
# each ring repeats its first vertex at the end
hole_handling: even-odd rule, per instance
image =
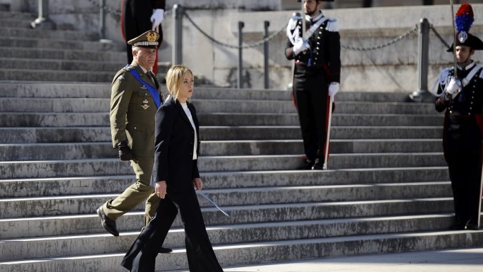
MULTIPOLYGON (((19 0, 35 6, 37 0, 19 0)), ((75 27, 86 31, 99 28, 99 10, 97 0, 66 1, 50 0, 52 19, 59 22, 74 23, 75 27), (69 2, 69 5, 66 5, 69 2)), ((181 1, 186 2, 186 13, 195 23, 217 41, 237 45, 237 24, 244 21, 244 42, 246 45, 262 39, 264 21, 270 22, 270 34, 286 25, 293 11, 253 12, 245 10, 238 1, 181 1), (218 3, 218 2, 217 2, 218 3), (190 6, 191 5, 191 6, 190 6), (204 9, 194 9, 200 6, 204 9)), ((173 19, 172 4, 168 1, 165 14, 164 37, 161 45, 160 61, 172 59, 173 19)), ((279 9, 280 1, 242 1, 250 8, 265 10, 279 9), (271 6, 270 6, 271 5, 271 6), (277 6, 278 5, 278 6, 277 6)), ((112 9, 119 10, 119 0, 107 0, 112 9)), ((458 6, 455 5, 455 10, 458 6)), ((476 18, 472 33, 482 37, 483 4, 473 4, 476 18), (482 14, 478 17, 478 14, 482 14)), ((32 9, 32 8, 31 8, 32 9)), ((392 8, 351 8, 326 10, 326 15, 339 21, 341 42, 345 46, 371 47, 385 43, 413 28, 420 19, 426 17, 444 39, 451 43, 451 9, 442 6, 407 6, 392 8)), ((122 42, 119 30, 119 17, 115 12, 108 13, 106 21, 107 39, 122 42)), ((75 39, 75 37, 72 37, 75 39)), ((195 70, 207 81, 218 86, 236 86, 238 50, 213 43, 198 30, 188 19, 183 21, 183 62, 195 70)), ((286 37, 284 32, 269 43, 270 88, 286 88, 292 81, 292 63, 284 57, 286 37)), ((443 43, 430 36, 429 86, 433 84, 437 73, 444 66, 451 66, 453 57, 445 52, 443 43)), ((405 39, 377 50, 355 51, 342 49, 342 90, 412 92, 417 90, 417 31, 405 39)), ((264 86, 263 46, 243 50, 245 87, 263 88, 264 86)), ((483 59, 480 52, 475 59, 483 59)))

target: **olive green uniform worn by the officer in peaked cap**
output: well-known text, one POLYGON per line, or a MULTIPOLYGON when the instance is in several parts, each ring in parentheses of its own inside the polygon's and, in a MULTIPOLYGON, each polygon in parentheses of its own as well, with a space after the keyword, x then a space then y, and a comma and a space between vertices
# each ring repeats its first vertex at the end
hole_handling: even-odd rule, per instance
MULTIPOLYGON (((154 217, 159 205, 159 197, 150 186, 152 165, 155 160, 155 115, 157 107, 149 90, 141 84, 130 70, 135 69, 142 80, 151 79, 141 67, 133 62, 119 70, 112 80, 110 98, 110 132, 112 146, 117 148, 121 142, 128 142, 135 159, 131 166, 136 174, 136 182, 126 188, 124 193, 103 204, 106 215, 117 220, 128 211, 146 200, 145 225, 154 217)), ((155 86, 161 95, 159 81, 154 77, 155 86)), ((162 101, 162 100, 161 100, 162 101)))

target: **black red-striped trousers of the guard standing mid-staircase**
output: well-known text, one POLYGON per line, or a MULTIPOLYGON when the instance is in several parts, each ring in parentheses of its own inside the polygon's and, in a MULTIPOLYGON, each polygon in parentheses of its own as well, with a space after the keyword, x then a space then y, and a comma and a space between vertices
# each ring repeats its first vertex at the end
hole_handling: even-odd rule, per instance
POLYGON ((328 125, 328 82, 322 67, 295 66, 293 92, 308 159, 324 162, 328 125))

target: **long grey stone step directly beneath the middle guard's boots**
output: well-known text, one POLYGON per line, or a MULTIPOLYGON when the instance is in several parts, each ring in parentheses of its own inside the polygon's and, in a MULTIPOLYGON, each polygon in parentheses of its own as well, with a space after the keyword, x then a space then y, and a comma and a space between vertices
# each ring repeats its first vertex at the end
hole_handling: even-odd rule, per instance
MULTIPOLYGON (((275 186, 342 186, 350 184, 447 182, 448 168, 373 168, 328 171, 242 171, 201 172, 204 189, 275 186)), ((0 179, 0 197, 41 197, 55 195, 121 192, 135 181, 126 175, 30 177, 0 179)))

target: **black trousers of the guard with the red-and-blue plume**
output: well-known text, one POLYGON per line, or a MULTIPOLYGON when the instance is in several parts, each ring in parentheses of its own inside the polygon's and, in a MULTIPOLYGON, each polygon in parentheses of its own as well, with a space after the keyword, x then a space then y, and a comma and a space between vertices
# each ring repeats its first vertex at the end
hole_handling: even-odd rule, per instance
POLYGON ((482 134, 473 117, 446 113, 443 135, 456 220, 477 222, 481 197, 482 134))

